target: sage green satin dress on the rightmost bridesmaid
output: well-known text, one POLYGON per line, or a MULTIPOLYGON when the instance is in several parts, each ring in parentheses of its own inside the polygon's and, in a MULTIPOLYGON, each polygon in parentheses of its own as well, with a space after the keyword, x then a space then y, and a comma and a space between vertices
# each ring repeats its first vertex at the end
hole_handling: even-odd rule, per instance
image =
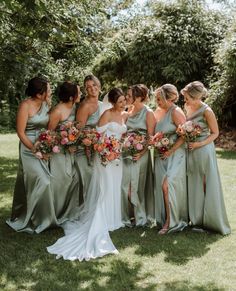
MULTIPOLYGON (((198 123, 202 132, 197 141, 202 141, 210 134, 202 107, 187 118, 198 123)), ((230 233, 230 226, 225 210, 223 191, 217 165, 214 143, 188 151, 188 196, 189 217, 193 225, 219 232, 230 233), (203 182, 206 182, 204 191, 203 182)))

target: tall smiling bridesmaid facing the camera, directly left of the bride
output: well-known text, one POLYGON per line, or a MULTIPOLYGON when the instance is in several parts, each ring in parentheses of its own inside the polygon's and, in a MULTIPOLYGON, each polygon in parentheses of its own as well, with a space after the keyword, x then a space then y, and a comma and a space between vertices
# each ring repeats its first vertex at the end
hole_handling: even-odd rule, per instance
MULTIPOLYGON (((76 121, 78 121, 82 127, 95 128, 102 111, 102 102, 98 100, 101 90, 100 81, 97 77, 88 75, 84 79, 84 88, 87 95, 77 110, 76 121)), ((75 165, 81 178, 80 189, 83 189, 82 199, 84 200, 92 176, 93 167, 91 163, 88 162, 83 148, 80 148, 76 153, 75 165)))

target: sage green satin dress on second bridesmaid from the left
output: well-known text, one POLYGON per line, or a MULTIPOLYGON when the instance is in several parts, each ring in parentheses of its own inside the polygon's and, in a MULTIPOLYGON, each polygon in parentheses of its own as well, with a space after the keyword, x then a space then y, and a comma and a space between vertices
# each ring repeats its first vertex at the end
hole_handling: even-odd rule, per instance
MULTIPOLYGON (((75 106, 68 118, 59 123, 58 128, 68 121, 75 121, 75 106)), ((79 178, 75 169, 74 154, 61 150, 50 159, 51 188, 55 215, 58 223, 77 217, 75 207, 79 206, 79 178)))

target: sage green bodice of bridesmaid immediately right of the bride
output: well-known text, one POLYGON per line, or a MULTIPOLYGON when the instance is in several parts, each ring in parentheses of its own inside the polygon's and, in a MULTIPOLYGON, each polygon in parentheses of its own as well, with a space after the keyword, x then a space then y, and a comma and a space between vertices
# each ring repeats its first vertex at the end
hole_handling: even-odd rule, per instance
POLYGON ((146 115, 148 111, 151 111, 151 109, 144 105, 144 107, 139 112, 133 116, 130 116, 126 122, 128 131, 134 129, 147 131, 146 115))

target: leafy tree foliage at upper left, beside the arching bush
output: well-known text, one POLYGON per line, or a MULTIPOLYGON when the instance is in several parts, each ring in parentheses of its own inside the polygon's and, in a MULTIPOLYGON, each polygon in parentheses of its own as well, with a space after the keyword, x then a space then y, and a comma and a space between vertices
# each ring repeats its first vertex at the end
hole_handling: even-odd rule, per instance
POLYGON ((3 0, 0 4, 1 128, 15 123, 26 82, 81 80, 100 52, 111 16, 131 0, 3 0), (9 113, 10 117, 9 118, 9 113))

